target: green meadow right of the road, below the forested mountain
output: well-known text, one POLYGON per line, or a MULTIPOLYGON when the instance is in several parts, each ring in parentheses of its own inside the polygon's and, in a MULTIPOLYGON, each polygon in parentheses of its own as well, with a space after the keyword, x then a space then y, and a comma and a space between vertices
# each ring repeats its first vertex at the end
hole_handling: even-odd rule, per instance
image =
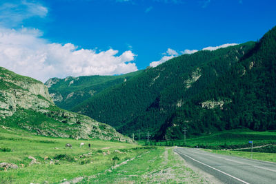
MULTIPOLYGON (((276 162, 276 132, 255 132, 248 129, 228 130, 215 134, 189 137, 184 140, 160 141, 152 145, 179 145, 205 148, 207 152, 231 154, 251 159, 251 143, 253 141, 253 159, 276 162)), ((145 144, 139 141, 139 144, 145 144)))

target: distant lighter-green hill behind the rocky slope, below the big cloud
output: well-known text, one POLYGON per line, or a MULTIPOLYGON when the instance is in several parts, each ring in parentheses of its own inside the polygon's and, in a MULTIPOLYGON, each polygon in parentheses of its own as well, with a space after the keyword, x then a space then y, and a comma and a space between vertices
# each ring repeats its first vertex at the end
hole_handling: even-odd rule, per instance
POLYGON ((124 83, 142 70, 119 76, 68 76, 66 79, 52 78, 46 81, 53 101, 60 108, 70 110, 75 105, 112 85, 124 83))

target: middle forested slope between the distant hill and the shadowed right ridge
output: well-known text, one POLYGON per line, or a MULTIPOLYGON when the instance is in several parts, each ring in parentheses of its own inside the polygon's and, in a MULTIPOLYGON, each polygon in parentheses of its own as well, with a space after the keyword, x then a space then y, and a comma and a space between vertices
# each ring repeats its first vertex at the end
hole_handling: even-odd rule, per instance
POLYGON ((141 132, 143 136, 150 131, 164 136, 159 130, 166 132, 175 111, 224 76, 254 46, 248 42, 181 55, 95 94, 72 110, 108 123, 123 134, 141 132))

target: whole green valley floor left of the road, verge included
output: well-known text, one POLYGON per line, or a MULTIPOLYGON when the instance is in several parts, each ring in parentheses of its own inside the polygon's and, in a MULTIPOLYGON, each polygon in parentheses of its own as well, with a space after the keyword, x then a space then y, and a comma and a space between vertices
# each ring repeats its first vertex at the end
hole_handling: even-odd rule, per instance
POLYGON ((7 127, 0 127, 2 163, 18 168, 1 167, 0 183, 212 183, 173 147, 49 138, 7 127))

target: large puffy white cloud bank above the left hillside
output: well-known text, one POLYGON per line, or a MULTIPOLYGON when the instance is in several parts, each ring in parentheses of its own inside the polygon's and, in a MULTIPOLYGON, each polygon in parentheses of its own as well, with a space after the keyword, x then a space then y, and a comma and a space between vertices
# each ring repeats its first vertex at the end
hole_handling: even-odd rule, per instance
POLYGON ((45 82, 50 77, 124 74, 137 70, 130 50, 77 49, 76 45, 49 43, 39 30, 0 28, 0 65, 45 82))

